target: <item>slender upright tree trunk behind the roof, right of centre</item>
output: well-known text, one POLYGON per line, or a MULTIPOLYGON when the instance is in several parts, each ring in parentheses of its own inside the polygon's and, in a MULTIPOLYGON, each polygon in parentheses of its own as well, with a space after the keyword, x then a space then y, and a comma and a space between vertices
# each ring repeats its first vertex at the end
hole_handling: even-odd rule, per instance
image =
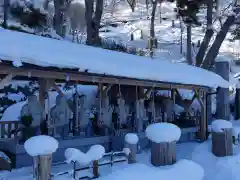
POLYGON ((155 45, 155 14, 157 9, 158 1, 152 1, 152 14, 151 14, 151 25, 150 25, 150 41, 149 41, 149 49, 150 49, 150 57, 153 57, 153 48, 155 45))

